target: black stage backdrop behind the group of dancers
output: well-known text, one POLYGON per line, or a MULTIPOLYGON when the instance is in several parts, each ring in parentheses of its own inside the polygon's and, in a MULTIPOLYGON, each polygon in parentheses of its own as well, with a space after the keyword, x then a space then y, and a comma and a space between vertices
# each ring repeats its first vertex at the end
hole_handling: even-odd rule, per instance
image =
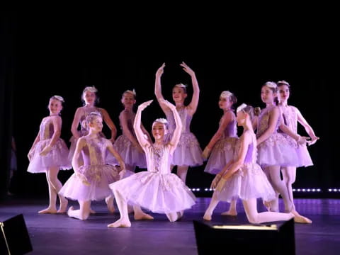
MULTIPOLYGON (((335 103, 339 51, 331 29, 300 26, 291 32, 282 23, 276 30, 249 23, 234 28, 227 21, 217 26, 198 20, 189 24, 140 21, 133 26, 109 14, 91 15, 1 13, 1 187, 4 193, 9 164, 9 141, 15 137, 18 171, 11 190, 22 196, 47 196, 44 174, 28 174, 28 150, 38 134, 40 121, 48 115, 52 95, 63 96, 62 138, 69 145, 71 124, 81 106, 81 91, 94 85, 99 107, 111 115, 119 131, 123 91, 135 89, 137 105, 154 97, 154 74, 165 62, 164 97, 171 88, 191 79, 179 64, 184 61, 196 72, 200 102, 191 123, 202 149, 218 128, 222 111, 221 91, 232 91, 240 103, 264 107, 261 85, 285 79, 291 84, 290 104, 297 106, 320 140, 309 148, 314 166, 297 170, 297 188, 340 187, 335 165, 335 103), (289 33, 291 32, 291 33, 289 33), (9 137, 9 138, 8 138, 9 137)), ((313 25, 313 24, 311 24, 313 25)), ((157 101, 143 112, 150 130, 152 120, 163 117, 157 101)), ((306 135, 299 127, 300 134, 306 135)), ((239 135, 242 130, 239 130, 239 135)), ((109 135, 108 128, 104 133, 109 135)), ((189 169, 191 188, 208 187, 210 174, 204 166, 189 169)), ((62 183, 73 171, 60 171, 62 183)))

